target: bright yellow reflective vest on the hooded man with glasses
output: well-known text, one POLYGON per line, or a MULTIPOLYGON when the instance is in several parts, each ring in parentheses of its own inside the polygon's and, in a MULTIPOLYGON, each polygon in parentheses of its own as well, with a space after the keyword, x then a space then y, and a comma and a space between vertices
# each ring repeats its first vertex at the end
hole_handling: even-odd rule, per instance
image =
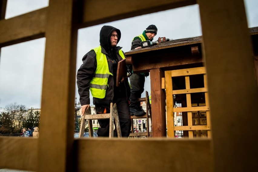
MULTIPOLYGON (((108 88, 108 77, 113 74, 109 72, 107 57, 101 52, 101 46, 93 50, 96 53, 97 69, 91 79, 90 90, 93 97, 104 98, 108 88)), ((125 58, 122 50, 119 50, 119 55, 125 58)))

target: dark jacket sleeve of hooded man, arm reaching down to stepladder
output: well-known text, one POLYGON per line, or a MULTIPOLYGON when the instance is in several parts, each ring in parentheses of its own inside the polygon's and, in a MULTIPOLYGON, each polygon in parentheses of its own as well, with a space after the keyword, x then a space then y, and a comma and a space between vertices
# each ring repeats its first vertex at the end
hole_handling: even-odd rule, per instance
POLYGON ((77 72, 77 86, 81 105, 85 105, 90 104, 90 82, 97 68, 95 51, 89 51, 82 61, 83 64, 77 72))

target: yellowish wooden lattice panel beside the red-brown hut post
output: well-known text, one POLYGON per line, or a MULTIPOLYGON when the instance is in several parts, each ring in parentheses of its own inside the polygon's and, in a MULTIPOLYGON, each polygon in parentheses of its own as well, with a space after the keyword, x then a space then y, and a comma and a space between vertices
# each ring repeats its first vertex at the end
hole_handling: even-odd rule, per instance
POLYGON ((193 138, 193 130, 208 130, 208 137, 211 138, 210 132, 210 111, 209 111, 209 98, 208 98, 208 89, 207 89, 207 75, 205 67, 199 68, 187 68, 179 69, 173 71, 165 71, 165 87, 166 87, 166 97, 167 102, 172 102, 167 104, 167 134, 168 137, 174 138, 174 131, 177 130, 187 130, 189 138, 193 138), (203 74, 204 88, 193 88, 190 89, 190 75, 203 74), (173 77, 185 77, 185 86, 184 90, 173 90, 172 80, 173 77), (204 92, 205 94, 205 106, 196 106, 192 107, 191 103, 191 93, 204 92), (174 99, 173 94, 186 94, 187 107, 186 108, 174 108, 174 99), (171 106, 172 105, 172 106, 171 106), (207 125, 193 125, 192 121, 192 112, 193 111, 205 111, 207 118, 207 125), (174 112, 187 112, 188 125, 187 126, 174 126, 174 112))

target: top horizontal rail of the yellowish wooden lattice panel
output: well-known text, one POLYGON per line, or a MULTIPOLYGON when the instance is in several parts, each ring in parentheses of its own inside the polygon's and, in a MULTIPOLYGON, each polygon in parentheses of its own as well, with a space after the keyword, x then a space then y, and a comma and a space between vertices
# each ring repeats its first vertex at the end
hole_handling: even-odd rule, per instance
POLYGON ((188 69, 179 69, 179 70, 173 70, 171 72, 171 76, 189 76, 189 75, 197 75, 197 74, 205 74, 206 69, 205 67, 200 68, 188 68, 188 69))

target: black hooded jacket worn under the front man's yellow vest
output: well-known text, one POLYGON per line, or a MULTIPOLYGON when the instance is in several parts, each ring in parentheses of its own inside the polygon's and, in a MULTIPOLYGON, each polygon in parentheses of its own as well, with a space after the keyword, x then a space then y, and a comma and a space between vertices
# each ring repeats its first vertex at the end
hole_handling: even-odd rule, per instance
MULTIPOLYGON (((116 73, 117 73, 117 63, 121 61, 122 58, 119 55, 119 50, 122 47, 111 46, 110 37, 113 31, 117 31, 117 44, 121 38, 121 32, 119 29, 112 26, 103 26, 100 31, 100 45, 101 52, 104 53, 107 57, 108 67, 110 73, 113 76, 109 75, 108 77, 108 88, 106 90, 106 95, 103 99, 93 98, 93 104, 102 105, 110 107, 110 103, 113 102, 114 98, 126 97, 129 100, 130 97, 130 86, 127 82, 127 79, 119 85, 115 86, 116 73)), ((124 53, 124 52, 123 52, 124 53)), ((77 72, 77 86, 78 93, 80 95, 81 105, 90 104, 90 81, 93 78, 94 72, 97 69, 97 60, 96 53, 94 50, 89 51, 82 58, 83 64, 78 69, 77 72)))

